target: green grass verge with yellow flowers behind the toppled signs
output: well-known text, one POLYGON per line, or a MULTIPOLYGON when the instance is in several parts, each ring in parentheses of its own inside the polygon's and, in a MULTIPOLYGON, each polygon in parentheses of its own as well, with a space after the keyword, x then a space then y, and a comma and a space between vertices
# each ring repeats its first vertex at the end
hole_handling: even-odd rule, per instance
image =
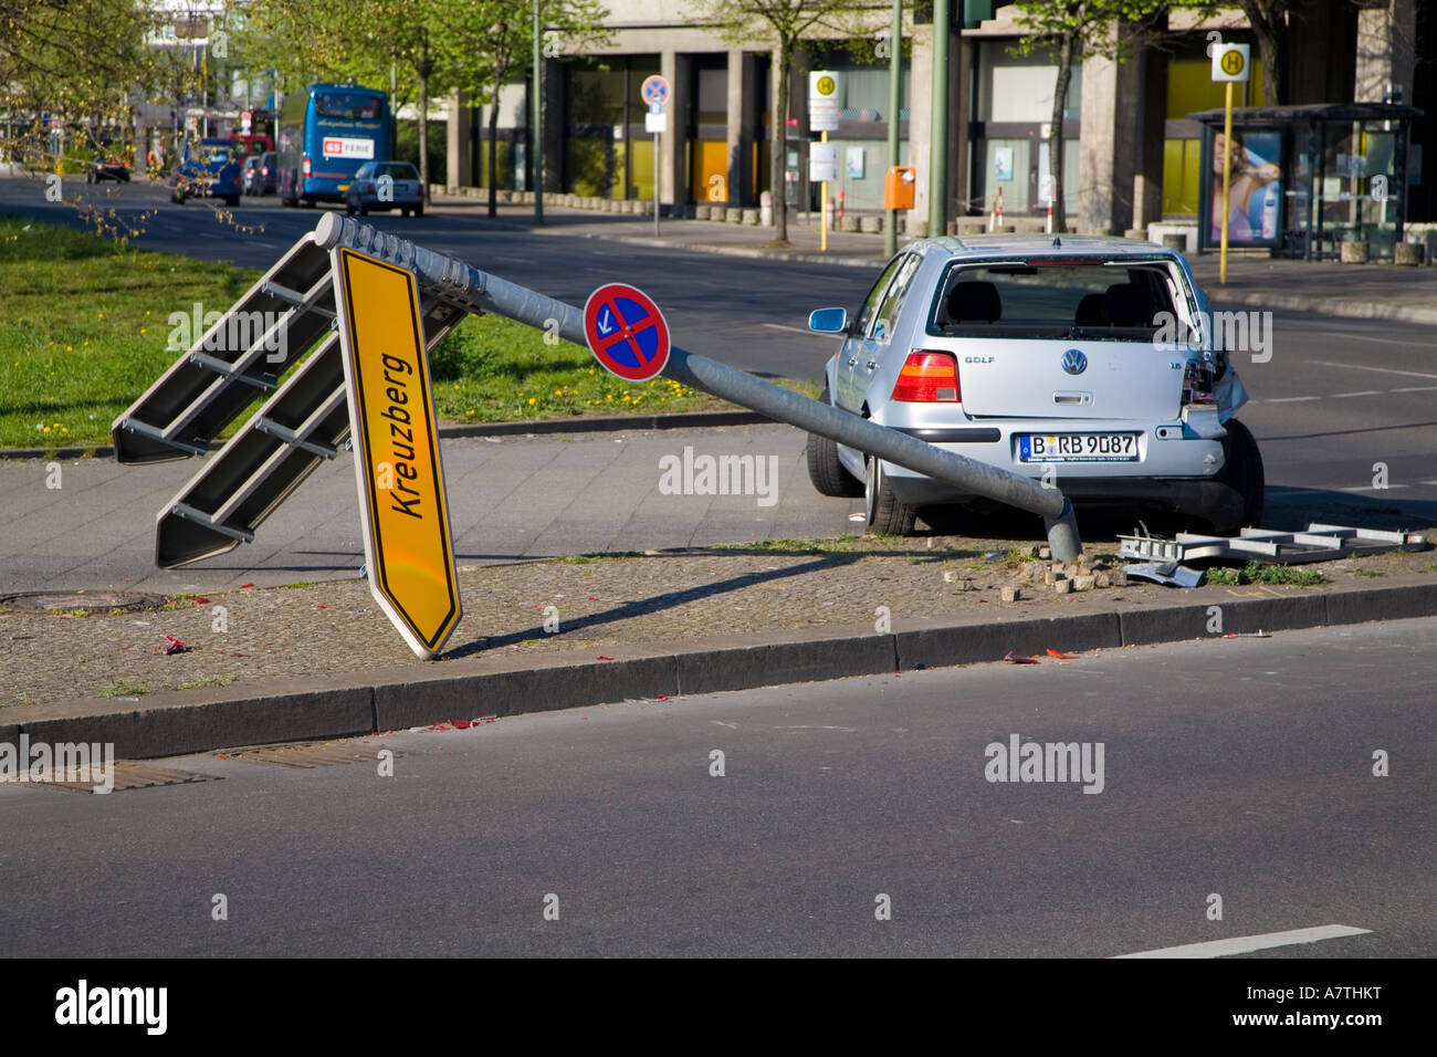
MULTIPOLYGON (((109 443, 111 421, 187 348, 178 319, 223 312, 260 275, 0 216, 0 449, 109 443)), ((445 423, 733 407, 668 378, 624 381, 586 348, 493 315, 466 318, 431 374, 445 423)))

